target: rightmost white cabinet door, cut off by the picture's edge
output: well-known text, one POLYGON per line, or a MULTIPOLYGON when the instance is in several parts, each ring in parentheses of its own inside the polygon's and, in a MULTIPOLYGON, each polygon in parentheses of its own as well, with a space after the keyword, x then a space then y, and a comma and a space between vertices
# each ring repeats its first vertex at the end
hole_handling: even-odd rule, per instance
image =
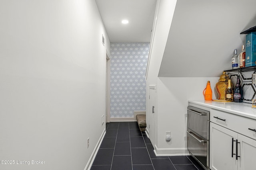
POLYGON ((256 140, 238 134, 238 141, 238 170, 255 169, 256 140))

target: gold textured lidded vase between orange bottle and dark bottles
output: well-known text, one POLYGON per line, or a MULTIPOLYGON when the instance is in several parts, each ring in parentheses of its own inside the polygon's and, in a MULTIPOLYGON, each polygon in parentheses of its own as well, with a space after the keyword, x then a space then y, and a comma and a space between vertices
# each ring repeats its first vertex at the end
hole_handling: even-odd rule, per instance
MULTIPOLYGON (((220 76, 219 82, 217 82, 215 85, 215 88, 219 95, 218 100, 226 100, 226 89, 228 87, 228 79, 228 75, 225 72, 223 72, 223 74, 220 76)), ((231 82, 231 88, 233 87, 234 86, 231 82)))

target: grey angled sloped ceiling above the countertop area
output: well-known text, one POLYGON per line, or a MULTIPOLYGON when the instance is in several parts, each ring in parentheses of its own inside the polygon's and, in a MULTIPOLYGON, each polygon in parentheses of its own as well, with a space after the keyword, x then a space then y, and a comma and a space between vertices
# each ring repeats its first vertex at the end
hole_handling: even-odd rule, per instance
POLYGON ((231 69, 245 29, 256 25, 255 0, 178 0, 159 77, 218 77, 231 69))

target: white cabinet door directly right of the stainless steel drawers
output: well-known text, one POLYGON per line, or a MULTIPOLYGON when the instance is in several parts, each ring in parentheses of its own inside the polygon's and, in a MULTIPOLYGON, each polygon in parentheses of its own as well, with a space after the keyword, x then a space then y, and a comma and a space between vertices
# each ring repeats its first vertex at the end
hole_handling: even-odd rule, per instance
POLYGON ((237 170, 236 155, 232 157, 232 153, 236 153, 237 135, 229 129, 210 122, 211 170, 237 170))

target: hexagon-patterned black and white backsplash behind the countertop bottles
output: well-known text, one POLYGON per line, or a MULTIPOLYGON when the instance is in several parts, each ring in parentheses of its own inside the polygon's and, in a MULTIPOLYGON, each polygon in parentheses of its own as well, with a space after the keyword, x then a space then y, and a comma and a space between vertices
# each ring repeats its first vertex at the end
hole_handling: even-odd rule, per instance
POLYGON ((256 86, 252 84, 252 74, 256 71, 248 72, 230 72, 228 76, 231 79, 231 82, 236 86, 237 76, 240 76, 241 86, 244 92, 244 102, 252 103, 252 100, 256 97, 256 86))

